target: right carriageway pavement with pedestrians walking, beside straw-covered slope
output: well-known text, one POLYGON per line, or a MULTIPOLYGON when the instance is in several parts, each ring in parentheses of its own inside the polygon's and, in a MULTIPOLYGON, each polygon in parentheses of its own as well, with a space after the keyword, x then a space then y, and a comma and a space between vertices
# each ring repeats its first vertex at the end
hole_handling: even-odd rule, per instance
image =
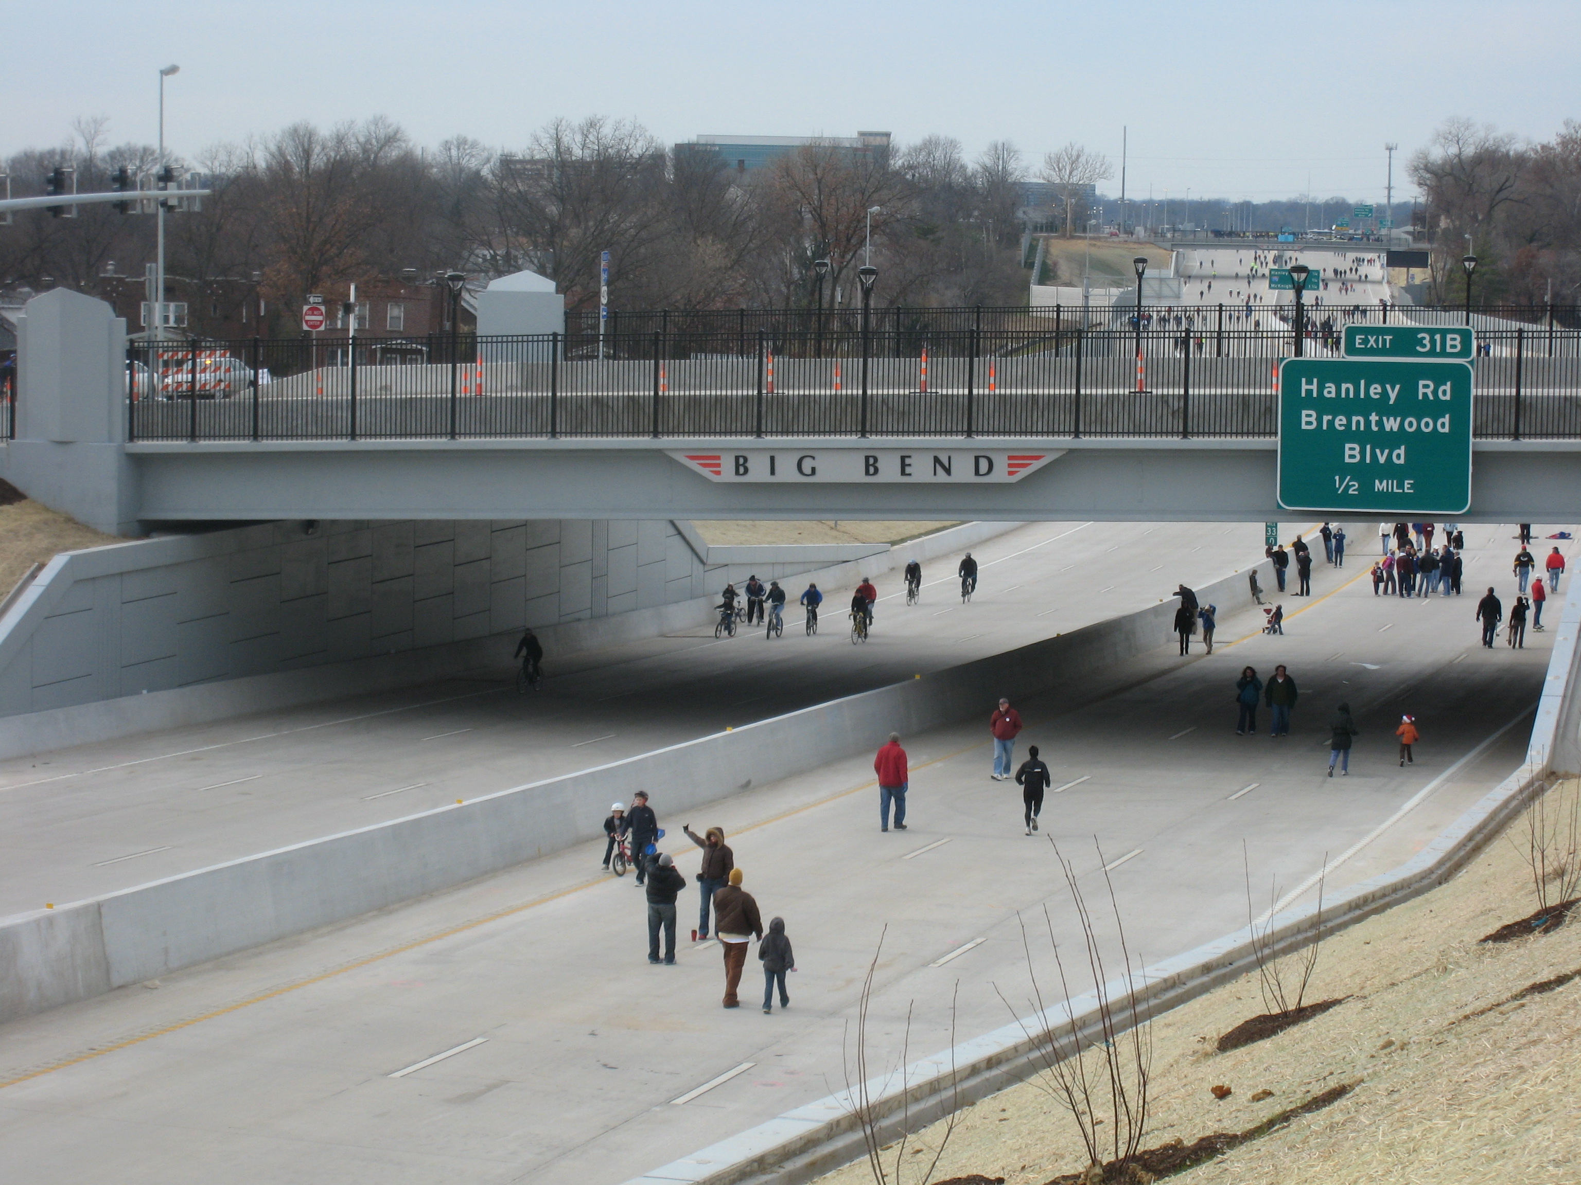
MULTIPOLYGON (((1350 567, 1319 562, 1309 602, 1282 599, 1284 637, 1243 613, 1211 657, 1170 646, 1017 705, 1017 760, 1042 746, 1059 787, 1036 836, 1017 788, 988 777, 991 705, 904 738, 906 831, 879 833, 865 755, 691 817, 661 798, 688 877, 680 825, 719 825, 765 920, 786 918, 798 967, 786 1011, 759 1011, 754 957, 734 1011, 719 1006, 718 946, 683 942, 678 965, 648 965, 643 894, 582 845, 6 1025, 8 1176, 621 1182, 841 1089, 870 964, 881 1066, 1026 1011, 1029 973, 1058 997, 1047 927, 1061 943, 1080 931, 1053 844, 1096 907, 1111 972, 1104 866, 1129 950, 1148 961, 1244 924, 1247 878, 1260 910, 1344 858, 1333 893, 1418 850, 1524 754, 1549 635, 1489 651, 1472 619, 1481 588, 1510 592, 1508 536, 1469 529, 1466 596, 1429 600, 1374 597, 1358 540, 1350 567), (1258 735, 1236 736, 1238 672, 1277 662, 1301 687, 1292 735, 1270 738, 1265 713, 1258 735), (1350 776, 1328 779, 1339 700, 1361 736, 1350 776), (1406 711, 1421 741, 1402 768, 1406 711)), ((1138 572, 1135 553, 1094 562, 1088 588, 1111 572, 1137 596, 1176 580, 1138 572)), ((1511 886, 1510 916, 1526 908, 1511 886)), ((683 939, 694 910, 689 886, 683 939)))

